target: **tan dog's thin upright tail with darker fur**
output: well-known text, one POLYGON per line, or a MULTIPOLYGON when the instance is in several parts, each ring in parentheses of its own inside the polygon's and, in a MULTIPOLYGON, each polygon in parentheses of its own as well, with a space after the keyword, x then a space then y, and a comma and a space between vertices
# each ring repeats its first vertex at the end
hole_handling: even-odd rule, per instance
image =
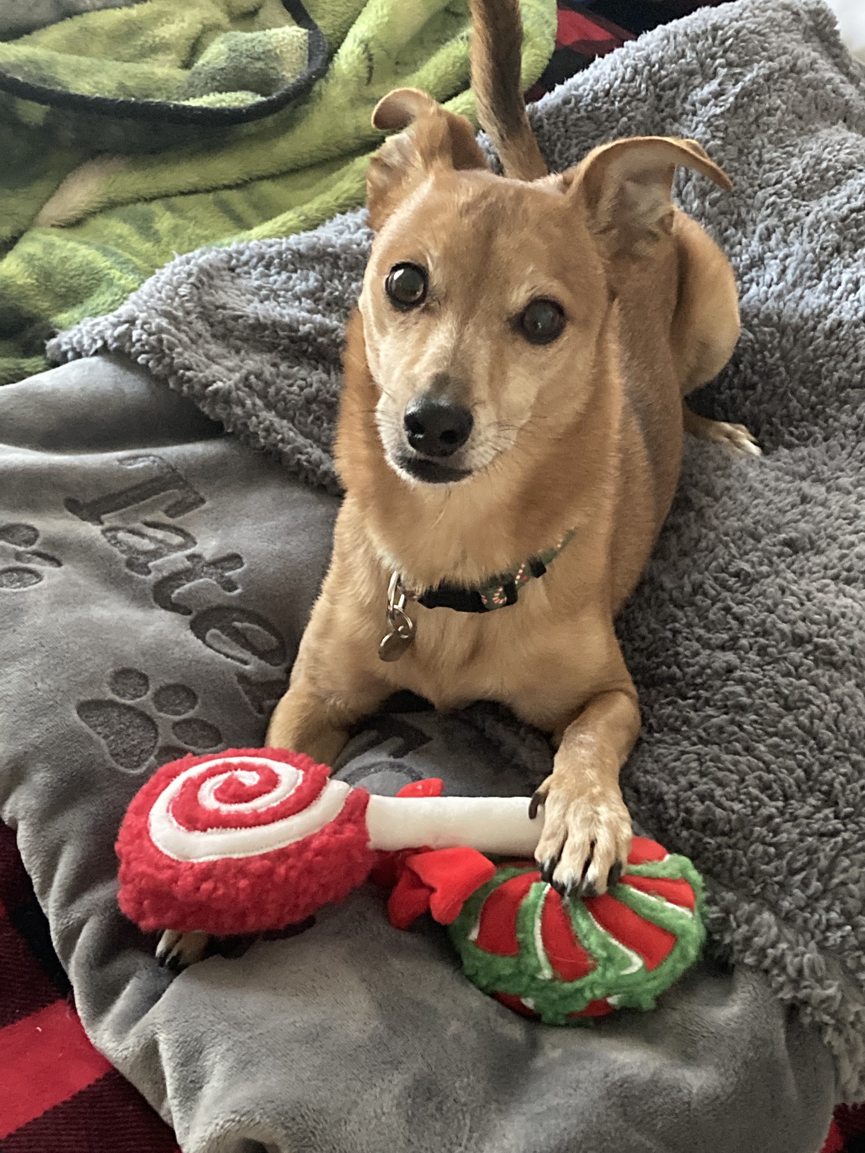
POLYGON ((472 89, 481 128, 498 151, 506 176, 547 175, 520 88, 522 21, 519 0, 471 0, 472 89))

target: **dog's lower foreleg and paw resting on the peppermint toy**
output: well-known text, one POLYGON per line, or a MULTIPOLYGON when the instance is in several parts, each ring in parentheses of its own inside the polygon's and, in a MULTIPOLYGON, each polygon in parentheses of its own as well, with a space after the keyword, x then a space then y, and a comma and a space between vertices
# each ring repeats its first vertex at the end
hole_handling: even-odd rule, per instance
POLYGON ((552 773, 532 798, 543 804, 543 832, 535 850, 546 881, 567 896, 596 896, 614 884, 627 861, 631 816, 618 773, 640 731, 633 686, 593 696, 554 733, 561 744, 552 773))

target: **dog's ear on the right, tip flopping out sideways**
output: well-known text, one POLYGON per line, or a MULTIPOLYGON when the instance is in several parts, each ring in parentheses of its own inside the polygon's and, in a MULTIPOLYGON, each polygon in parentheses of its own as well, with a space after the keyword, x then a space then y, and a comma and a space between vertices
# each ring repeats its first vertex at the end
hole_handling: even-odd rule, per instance
POLYGON ((566 195, 579 198, 609 257, 639 258, 672 228, 670 189, 679 165, 695 168, 721 188, 732 188, 697 141, 635 136, 589 152, 564 174, 570 184, 566 195))

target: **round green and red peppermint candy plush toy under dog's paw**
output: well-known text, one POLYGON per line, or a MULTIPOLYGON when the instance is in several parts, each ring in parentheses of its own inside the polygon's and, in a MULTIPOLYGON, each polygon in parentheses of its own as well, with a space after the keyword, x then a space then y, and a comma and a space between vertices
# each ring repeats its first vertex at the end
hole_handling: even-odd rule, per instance
POLYGON ((466 977, 548 1025, 652 1009, 705 939, 699 873, 645 837, 633 838, 626 872, 600 897, 565 900, 535 861, 496 865, 471 849, 443 849, 406 859, 391 922, 411 924, 423 891, 435 920, 449 926, 466 977))

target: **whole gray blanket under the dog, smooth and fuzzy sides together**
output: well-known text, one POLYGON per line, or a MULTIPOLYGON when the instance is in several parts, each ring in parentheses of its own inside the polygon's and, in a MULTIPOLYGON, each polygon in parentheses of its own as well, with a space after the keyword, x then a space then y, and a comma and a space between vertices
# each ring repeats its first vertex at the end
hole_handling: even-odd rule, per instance
MULTIPOLYGON (((836 1094, 865 1097, 862 71, 817 0, 743 0, 532 115, 557 168, 665 133, 736 182, 677 184, 742 287, 743 338, 701 406, 767 455, 689 445, 620 620, 646 722, 625 798, 707 876, 716 960, 653 1015, 540 1028, 364 890, 239 960, 173 984, 155 969, 113 904, 113 832, 160 759, 262 739, 326 564, 339 346, 370 238, 354 213, 193 254, 52 347, 100 359, 0 393, 3 819, 85 1027, 185 1148, 805 1153, 836 1094)), ((549 761, 490 707, 358 741, 340 773, 383 791, 416 774, 528 792, 549 761)))

